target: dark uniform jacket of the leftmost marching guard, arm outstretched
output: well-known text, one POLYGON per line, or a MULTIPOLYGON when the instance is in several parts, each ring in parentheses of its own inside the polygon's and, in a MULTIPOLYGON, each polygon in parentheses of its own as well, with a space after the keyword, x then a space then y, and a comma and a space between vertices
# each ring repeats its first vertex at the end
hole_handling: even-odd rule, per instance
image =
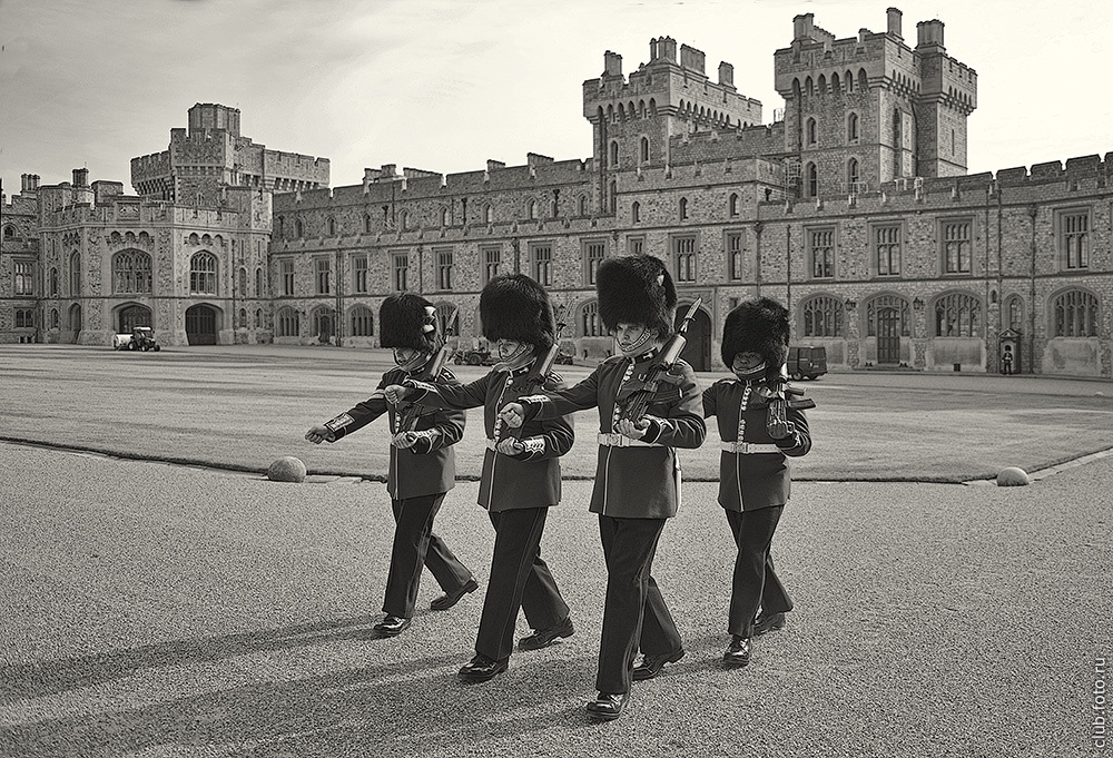
MULTIPOLYGON (((394 406, 386 402, 383 390, 391 384, 402 384, 411 374, 401 368, 391 368, 383 374, 378 387, 371 397, 342 413, 325 426, 336 440, 363 429, 384 413, 388 414, 391 433, 397 431, 394 406)), ((459 384, 452 372, 441 372, 440 381, 459 384)), ((402 449, 391 445, 391 470, 386 478, 386 491, 394 500, 407 500, 422 495, 447 492, 455 485, 456 457, 452 445, 464 435, 463 411, 436 411, 426 413, 417 421, 421 439, 413 447, 402 449), (440 435, 431 433, 440 431, 440 435)))

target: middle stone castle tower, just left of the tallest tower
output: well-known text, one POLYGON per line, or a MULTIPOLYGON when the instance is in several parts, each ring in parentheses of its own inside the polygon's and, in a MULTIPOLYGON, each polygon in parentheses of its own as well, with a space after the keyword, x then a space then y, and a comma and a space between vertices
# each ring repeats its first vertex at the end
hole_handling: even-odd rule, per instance
POLYGON ((702 51, 671 37, 651 39, 649 62, 622 75, 622 56, 603 53, 603 73, 583 82, 583 117, 593 130, 600 168, 601 210, 613 208, 617 171, 669 163, 670 140, 698 130, 736 129, 761 122, 761 102, 735 88, 735 69, 719 63, 718 81, 705 71, 702 51))

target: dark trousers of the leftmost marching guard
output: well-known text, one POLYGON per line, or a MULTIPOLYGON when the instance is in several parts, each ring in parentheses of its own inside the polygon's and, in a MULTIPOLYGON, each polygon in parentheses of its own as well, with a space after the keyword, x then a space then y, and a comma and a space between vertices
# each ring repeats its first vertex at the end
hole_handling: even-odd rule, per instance
POLYGON ((443 501, 443 492, 391 501, 395 523, 394 549, 391 551, 383 612, 413 618, 422 565, 429 568, 445 592, 454 592, 471 580, 472 572, 467 567, 452 554, 444 540, 433 533, 433 519, 443 501))

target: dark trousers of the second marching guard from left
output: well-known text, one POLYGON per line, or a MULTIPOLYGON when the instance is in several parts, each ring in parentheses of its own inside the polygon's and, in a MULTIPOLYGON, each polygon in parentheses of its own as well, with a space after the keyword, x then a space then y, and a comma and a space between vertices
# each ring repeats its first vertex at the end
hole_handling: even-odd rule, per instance
POLYGON ((519 609, 533 629, 548 629, 568 618, 568 603, 541 560, 541 534, 548 508, 492 512, 494 554, 475 652, 492 660, 510 658, 519 609))

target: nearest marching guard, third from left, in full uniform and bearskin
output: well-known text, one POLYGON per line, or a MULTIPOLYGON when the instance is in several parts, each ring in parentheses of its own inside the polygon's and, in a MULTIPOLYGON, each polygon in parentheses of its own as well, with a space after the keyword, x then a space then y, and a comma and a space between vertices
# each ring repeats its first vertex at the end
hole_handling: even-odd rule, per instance
POLYGON ((668 382, 646 381, 673 334, 677 291, 668 268, 648 255, 608 258, 597 276, 599 315, 621 355, 602 362, 567 390, 528 395, 502 408, 510 426, 599 408, 599 452, 590 510, 599 514, 607 563, 607 598, 592 718, 615 719, 631 679, 650 679, 680 660, 683 644, 657 581, 653 557, 680 502, 678 447, 698 447, 706 426, 691 366, 679 361, 668 382), (632 401, 648 412, 628 417, 632 401), (640 666, 633 667, 639 647, 640 666))

